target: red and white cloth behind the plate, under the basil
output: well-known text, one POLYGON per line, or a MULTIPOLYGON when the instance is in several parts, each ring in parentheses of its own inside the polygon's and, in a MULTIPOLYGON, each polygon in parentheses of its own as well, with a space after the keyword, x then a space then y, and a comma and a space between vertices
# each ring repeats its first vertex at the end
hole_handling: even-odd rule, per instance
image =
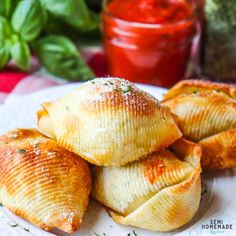
MULTIPOLYGON (((84 48, 81 54, 97 77, 106 75, 105 55, 101 48, 84 48)), ((3 103, 9 95, 24 95, 51 86, 69 83, 69 81, 49 75, 46 70, 39 67, 35 59, 32 60, 34 65, 30 73, 21 72, 12 65, 0 72, 0 103, 3 103)))

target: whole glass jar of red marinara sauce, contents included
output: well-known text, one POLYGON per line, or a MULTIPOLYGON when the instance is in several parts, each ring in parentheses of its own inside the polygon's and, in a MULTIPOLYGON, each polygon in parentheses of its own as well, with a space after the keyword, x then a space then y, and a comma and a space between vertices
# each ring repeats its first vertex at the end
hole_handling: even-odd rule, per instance
POLYGON ((110 76, 170 87, 185 75, 195 32, 187 0, 111 0, 102 12, 110 76))

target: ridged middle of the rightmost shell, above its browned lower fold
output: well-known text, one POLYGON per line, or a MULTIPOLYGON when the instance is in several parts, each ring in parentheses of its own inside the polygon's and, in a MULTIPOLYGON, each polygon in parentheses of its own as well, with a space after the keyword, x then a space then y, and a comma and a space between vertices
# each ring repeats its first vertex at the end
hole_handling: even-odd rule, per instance
POLYGON ((221 94, 180 94, 163 104, 178 116, 184 137, 194 142, 236 128, 236 101, 221 94))

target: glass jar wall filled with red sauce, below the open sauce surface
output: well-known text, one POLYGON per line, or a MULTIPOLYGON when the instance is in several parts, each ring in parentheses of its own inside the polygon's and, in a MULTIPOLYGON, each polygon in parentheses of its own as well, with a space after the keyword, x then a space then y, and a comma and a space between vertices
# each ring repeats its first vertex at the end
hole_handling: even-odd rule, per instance
POLYGON ((109 2, 101 14, 109 75, 163 87, 183 79, 195 17, 168 24, 130 22, 109 12, 109 2))

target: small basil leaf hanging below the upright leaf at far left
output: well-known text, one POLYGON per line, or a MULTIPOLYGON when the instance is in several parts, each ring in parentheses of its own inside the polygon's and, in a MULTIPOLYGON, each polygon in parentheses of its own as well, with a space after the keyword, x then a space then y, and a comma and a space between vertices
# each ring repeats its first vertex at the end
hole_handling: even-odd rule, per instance
POLYGON ((25 41, 19 39, 11 46, 11 57, 16 66, 22 70, 28 70, 30 67, 30 49, 25 41))

